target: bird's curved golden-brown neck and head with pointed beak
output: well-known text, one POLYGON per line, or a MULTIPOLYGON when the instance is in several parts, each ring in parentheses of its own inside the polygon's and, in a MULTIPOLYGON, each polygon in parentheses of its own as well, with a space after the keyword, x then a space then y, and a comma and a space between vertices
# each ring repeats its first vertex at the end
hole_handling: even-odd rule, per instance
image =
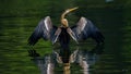
POLYGON ((78 8, 68 9, 68 10, 66 10, 66 11, 62 13, 62 15, 61 15, 61 24, 62 24, 63 27, 68 27, 68 26, 69 26, 68 20, 66 18, 66 15, 67 15, 68 13, 70 13, 71 11, 74 11, 74 10, 76 10, 76 9, 78 9, 78 8))

